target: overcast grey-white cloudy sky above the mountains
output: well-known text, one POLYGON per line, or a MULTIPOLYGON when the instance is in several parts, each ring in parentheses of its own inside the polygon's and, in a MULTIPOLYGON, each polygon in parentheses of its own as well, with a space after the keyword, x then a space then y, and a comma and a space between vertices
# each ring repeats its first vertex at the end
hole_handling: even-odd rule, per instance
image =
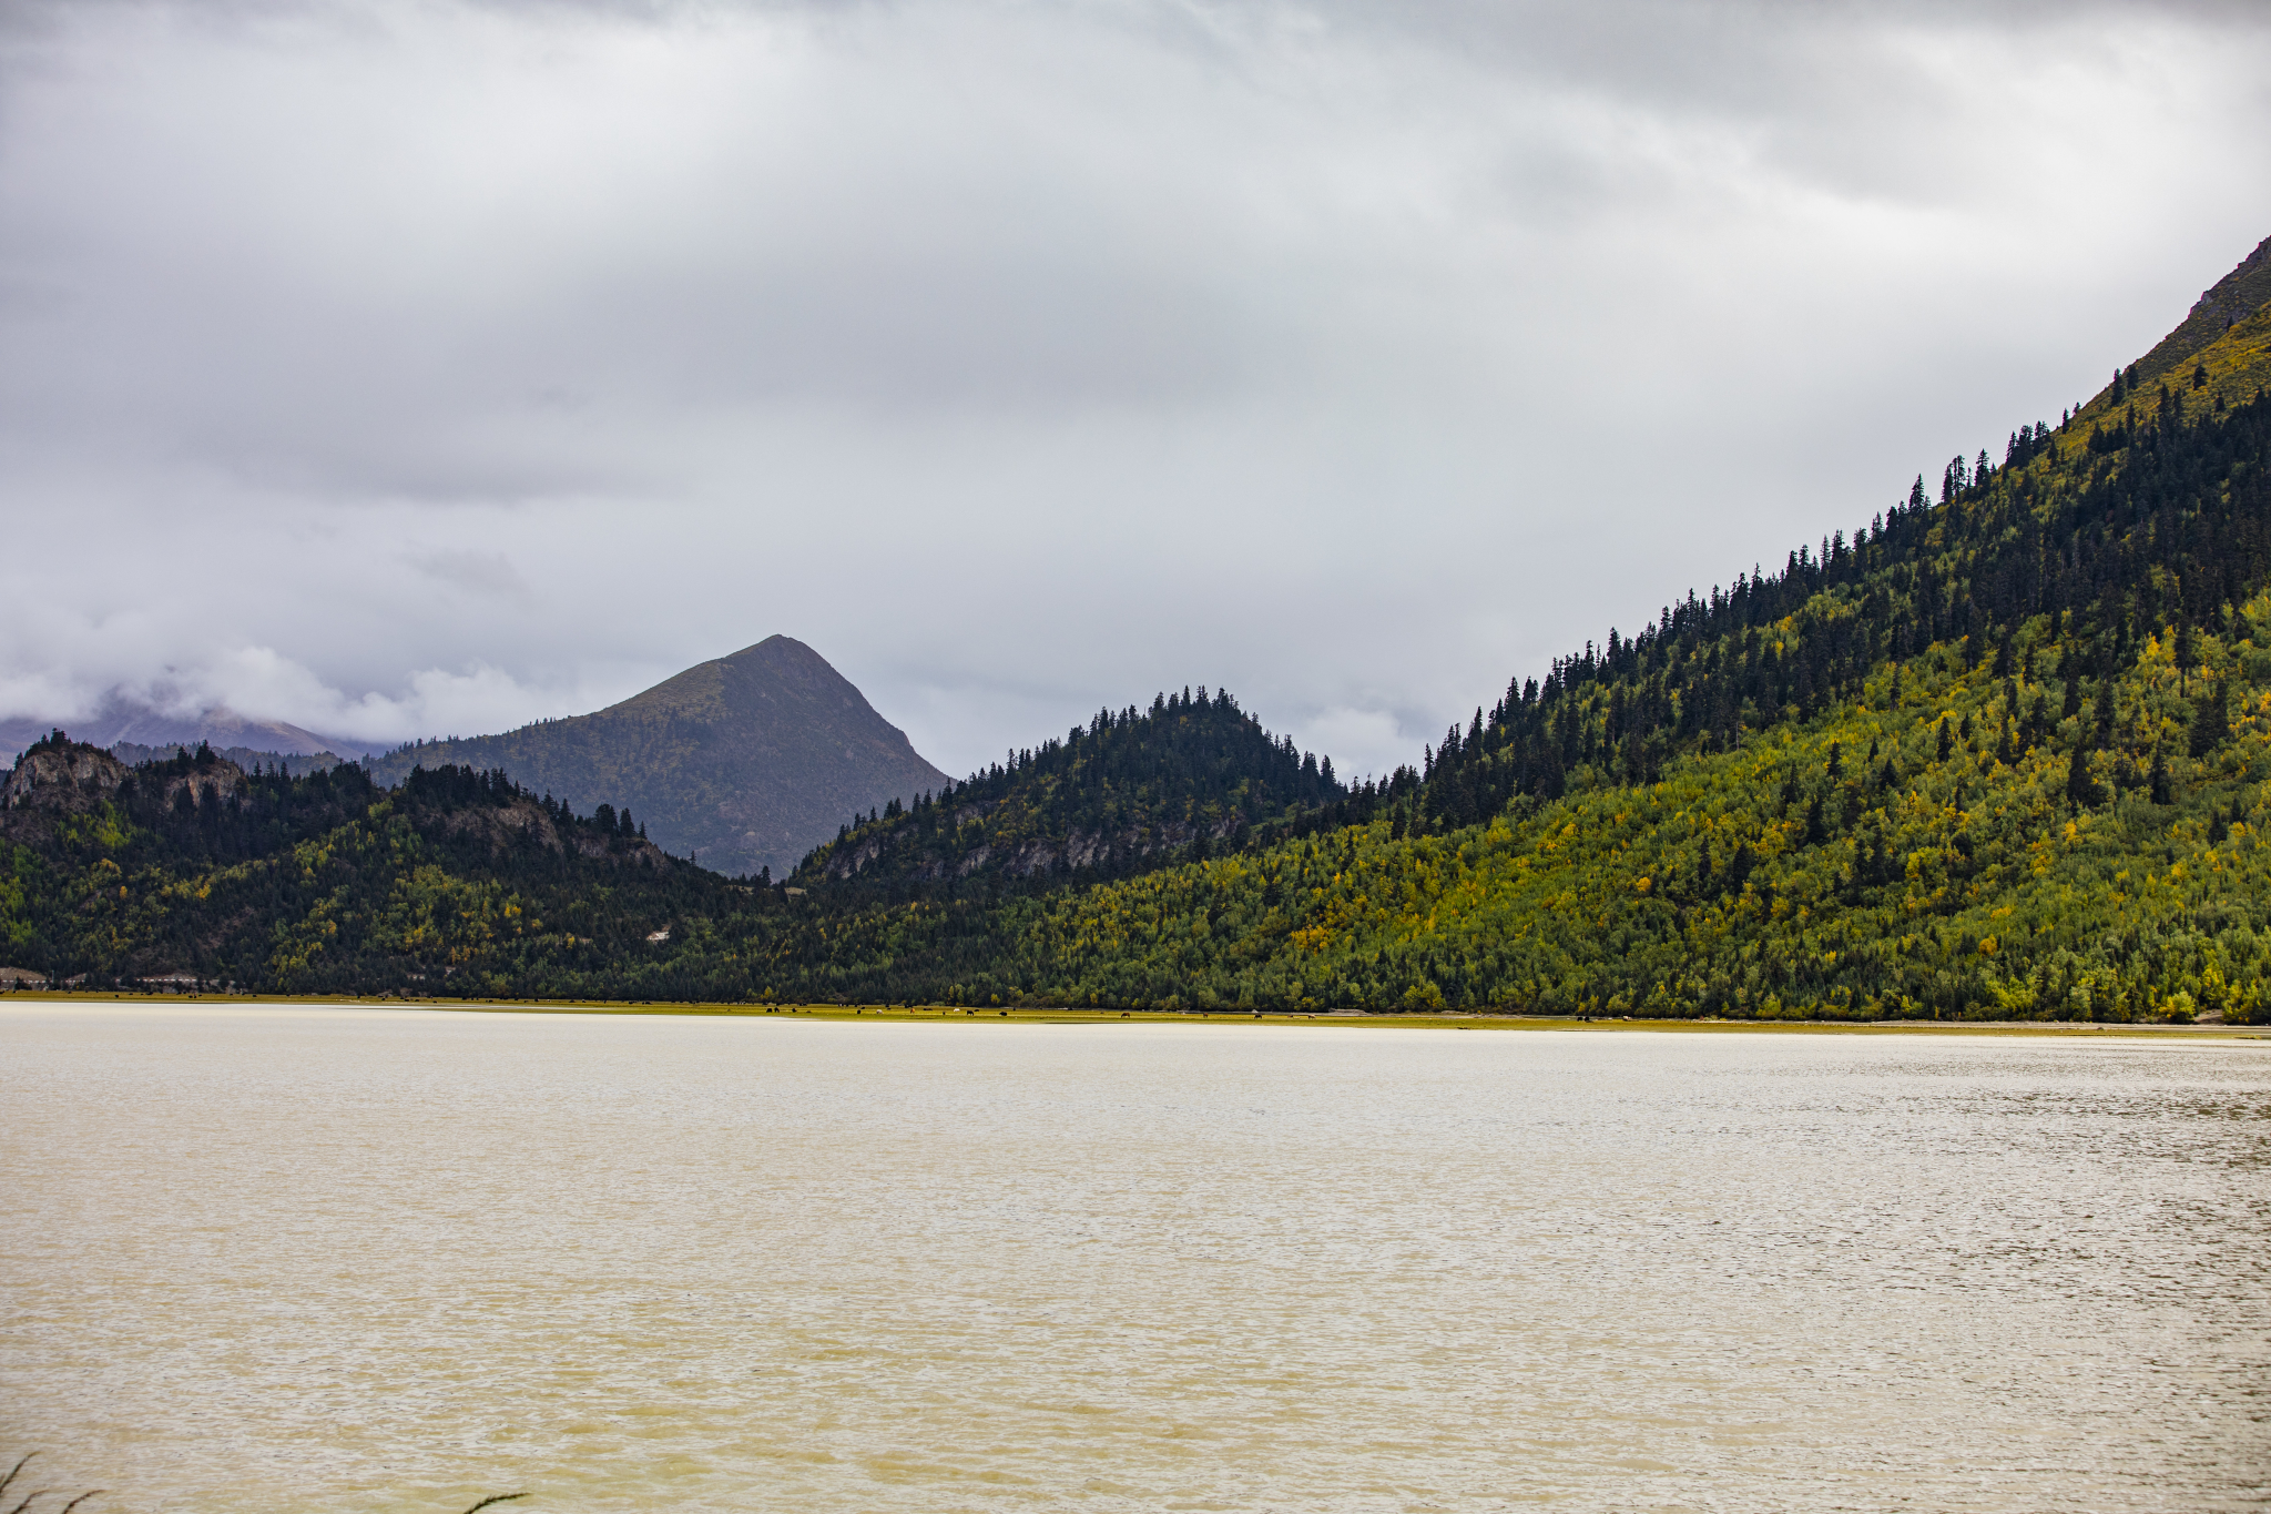
POLYGON ((2271 234, 2271 7, 0 11, 0 715, 774 631, 1344 772, 2001 456, 2271 234))

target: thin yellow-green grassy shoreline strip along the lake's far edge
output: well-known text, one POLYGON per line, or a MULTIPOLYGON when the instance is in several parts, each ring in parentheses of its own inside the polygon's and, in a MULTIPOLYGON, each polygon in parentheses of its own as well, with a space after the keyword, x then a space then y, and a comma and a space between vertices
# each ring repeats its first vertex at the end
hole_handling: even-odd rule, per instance
POLYGON ((363 999, 341 996, 291 996, 291 994, 55 994, 16 990, 0 996, 0 1003, 48 1003, 48 1006, 200 1006, 200 1008, 311 1008, 311 1010, 402 1010, 402 1012, 461 1012, 461 1015, 684 1015, 697 1019, 840 1019, 872 1024, 1049 1024, 1049 1026, 1108 1026, 1108 1024, 1229 1024, 1229 1026, 1340 1026, 1340 1028, 1403 1028, 1403 1031, 1558 1031, 1558 1033, 1615 1033, 1615 1031, 1701 1031, 1735 1035, 1996 1035, 1996 1037, 2051 1037, 2051 1040, 2257 1040, 2271 1042, 2271 1026, 2153 1026, 2153 1024, 2096 1024, 2096 1021, 2046 1021, 2046 1019, 1628 1019, 1574 1015, 1369 1015, 1351 1010, 1272 1012, 1272 1010, 1070 1010, 1070 1008, 997 1008, 997 1006, 849 1006, 849 1003, 638 1003, 604 999, 563 1001, 516 1001, 516 999, 363 999))

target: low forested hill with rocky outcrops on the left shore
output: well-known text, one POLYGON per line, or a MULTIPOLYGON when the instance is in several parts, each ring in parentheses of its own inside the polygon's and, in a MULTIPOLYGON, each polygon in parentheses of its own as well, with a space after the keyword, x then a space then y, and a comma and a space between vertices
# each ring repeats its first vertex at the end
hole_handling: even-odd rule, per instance
POLYGON ((497 772, 382 790, 354 765, 248 774, 211 749, 129 769, 55 735, 0 788, 0 951, 98 985, 495 994, 527 956, 613 969, 747 897, 615 810, 577 817, 497 772))

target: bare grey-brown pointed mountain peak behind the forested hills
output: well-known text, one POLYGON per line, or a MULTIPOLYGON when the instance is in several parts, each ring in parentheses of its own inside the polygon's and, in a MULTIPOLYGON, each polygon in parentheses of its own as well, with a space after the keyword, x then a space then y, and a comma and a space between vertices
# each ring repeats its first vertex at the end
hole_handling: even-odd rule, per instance
POLYGON ((595 715, 368 763, 382 783, 416 765, 502 769, 579 810, 629 808, 656 844, 724 874, 788 872, 854 813, 947 781, 818 651, 786 636, 595 715))

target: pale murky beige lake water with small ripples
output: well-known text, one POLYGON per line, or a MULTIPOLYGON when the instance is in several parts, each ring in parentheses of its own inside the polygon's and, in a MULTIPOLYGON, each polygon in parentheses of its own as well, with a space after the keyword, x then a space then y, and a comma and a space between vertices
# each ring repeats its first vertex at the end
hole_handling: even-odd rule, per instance
POLYGON ((2271 1507, 2271 1042, 16 1003, 0 1065, 0 1450, 89 1514, 2271 1507))

